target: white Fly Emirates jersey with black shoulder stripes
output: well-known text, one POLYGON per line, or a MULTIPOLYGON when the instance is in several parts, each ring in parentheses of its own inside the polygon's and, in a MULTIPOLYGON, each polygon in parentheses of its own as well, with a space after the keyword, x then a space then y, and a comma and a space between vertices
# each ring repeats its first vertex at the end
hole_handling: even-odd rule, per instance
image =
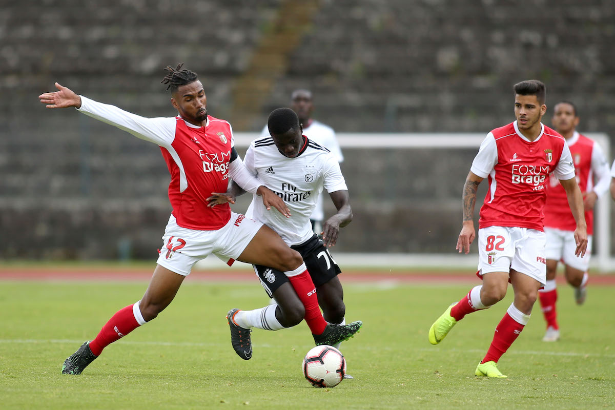
POLYGON ((333 154, 309 138, 294 158, 282 155, 271 136, 259 138, 250 144, 244 164, 284 200, 291 213, 286 218, 274 208, 268 211, 263 200, 254 195, 245 216, 271 227, 289 246, 300 245, 314 235, 309 218, 323 189, 348 189, 333 154))

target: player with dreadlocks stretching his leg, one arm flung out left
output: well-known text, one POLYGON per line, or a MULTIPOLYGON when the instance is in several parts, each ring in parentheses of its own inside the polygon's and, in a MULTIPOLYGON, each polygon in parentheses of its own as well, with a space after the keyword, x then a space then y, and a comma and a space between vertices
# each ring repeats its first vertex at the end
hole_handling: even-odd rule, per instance
MULTIPOLYGON (((47 108, 75 107, 87 116, 159 145, 171 174, 169 200, 173 211, 143 298, 117 311, 92 341, 67 358, 63 374, 81 374, 107 345, 157 317, 169 306, 192 266, 212 253, 224 261, 236 259, 282 270, 305 306, 305 319, 317 344, 349 339, 361 325, 355 322, 333 326, 324 320, 301 255, 288 248, 276 232, 232 212, 228 204, 207 206, 212 193, 225 192, 232 179, 245 191, 260 195, 266 209, 274 207, 290 216, 284 201, 245 168, 234 148, 231 125, 207 114, 207 97, 197 74, 181 66, 167 66, 169 74, 162 80, 162 84, 168 84, 177 117, 137 116, 77 95, 58 83, 58 91, 39 95, 47 108)), ((249 336, 249 331, 240 328, 234 334, 233 345, 245 359, 252 357, 249 336)))

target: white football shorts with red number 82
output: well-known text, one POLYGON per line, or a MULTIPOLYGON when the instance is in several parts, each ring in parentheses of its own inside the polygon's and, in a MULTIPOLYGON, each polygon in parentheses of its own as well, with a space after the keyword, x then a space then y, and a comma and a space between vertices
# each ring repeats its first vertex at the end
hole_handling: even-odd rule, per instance
POLYGON ((478 270, 481 274, 514 269, 542 285, 547 280, 546 235, 536 229, 490 226, 478 229, 478 270))

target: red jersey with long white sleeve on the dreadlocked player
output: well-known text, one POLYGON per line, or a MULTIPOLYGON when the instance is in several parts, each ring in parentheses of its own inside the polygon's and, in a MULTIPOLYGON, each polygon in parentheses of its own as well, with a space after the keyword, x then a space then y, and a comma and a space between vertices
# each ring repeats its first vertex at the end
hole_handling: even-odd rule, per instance
POLYGON ((226 192, 228 186, 234 145, 228 122, 208 116, 199 127, 181 117, 145 118, 84 96, 78 110, 160 146, 171 173, 169 200, 179 226, 214 231, 231 219, 228 203, 207 207, 212 192, 226 192))

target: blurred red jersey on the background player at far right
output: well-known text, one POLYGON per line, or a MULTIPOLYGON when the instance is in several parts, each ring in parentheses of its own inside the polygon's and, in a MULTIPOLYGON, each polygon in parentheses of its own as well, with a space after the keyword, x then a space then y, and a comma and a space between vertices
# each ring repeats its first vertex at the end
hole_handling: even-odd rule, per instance
MULTIPOLYGON (((596 156, 595 151, 598 150, 601 157, 603 155, 595 141, 577 132, 567 142, 573 157, 579 189, 585 195, 585 192, 590 191, 593 187, 592 159, 596 156)), ((593 235, 593 210, 585 211, 585 222, 587 223, 587 235, 593 235)), ((574 231, 576 229, 576 221, 574 221, 573 213, 570 210, 566 191, 553 175, 550 178, 550 183, 547 184, 544 225, 563 231, 574 231)))

